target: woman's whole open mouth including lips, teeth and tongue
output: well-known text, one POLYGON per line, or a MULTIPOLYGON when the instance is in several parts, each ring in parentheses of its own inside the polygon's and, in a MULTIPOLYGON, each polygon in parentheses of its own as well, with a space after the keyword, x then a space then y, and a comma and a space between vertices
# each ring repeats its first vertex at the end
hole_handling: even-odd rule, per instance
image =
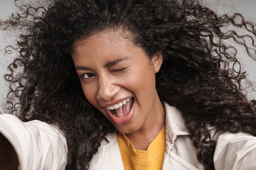
POLYGON ((115 105, 106 107, 107 112, 109 113, 112 120, 117 123, 128 122, 132 118, 132 105, 134 98, 127 98, 115 105))

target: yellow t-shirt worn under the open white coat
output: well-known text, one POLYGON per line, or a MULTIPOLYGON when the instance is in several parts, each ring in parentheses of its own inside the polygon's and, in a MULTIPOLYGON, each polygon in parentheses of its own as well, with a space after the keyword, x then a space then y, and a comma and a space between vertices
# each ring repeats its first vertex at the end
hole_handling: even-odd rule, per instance
POLYGON ((148 150, 136 150, 130 140, 116 131, 117 142, 125 170, 161 170, 165 151, 165 126, 148 146, 148 150))

